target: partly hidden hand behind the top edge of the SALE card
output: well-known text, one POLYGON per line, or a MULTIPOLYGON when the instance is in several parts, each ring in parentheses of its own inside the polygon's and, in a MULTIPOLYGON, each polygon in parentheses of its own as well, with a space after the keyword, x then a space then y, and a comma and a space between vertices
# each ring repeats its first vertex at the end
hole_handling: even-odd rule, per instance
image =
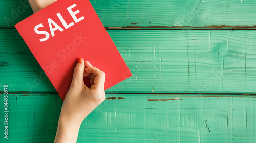
POLYGON ((55 1, 56 0, 29 0, 29 4, 33 12, 36 13, 37 11, 47 7, 55 1))

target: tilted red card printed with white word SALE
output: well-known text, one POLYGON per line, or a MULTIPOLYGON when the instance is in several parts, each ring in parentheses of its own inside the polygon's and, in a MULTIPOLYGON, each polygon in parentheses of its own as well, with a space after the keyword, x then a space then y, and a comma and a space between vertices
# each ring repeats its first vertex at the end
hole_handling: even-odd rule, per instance
POLYGON ((89 0, 58 0, 15 27, 62 100, 79 57, 106 73, 105 90, 132 76, 89 0))

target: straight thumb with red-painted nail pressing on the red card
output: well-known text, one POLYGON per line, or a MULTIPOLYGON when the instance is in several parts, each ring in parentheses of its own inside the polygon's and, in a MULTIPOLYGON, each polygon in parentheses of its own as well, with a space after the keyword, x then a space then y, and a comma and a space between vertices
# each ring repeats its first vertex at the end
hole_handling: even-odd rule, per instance
POLYGON ((74 69, 73 80, 72 83, 75 87, 79 85, 83 85, 83 73, 84 73, 84 60, 79 58, 77 60, 76 67, 74 69))

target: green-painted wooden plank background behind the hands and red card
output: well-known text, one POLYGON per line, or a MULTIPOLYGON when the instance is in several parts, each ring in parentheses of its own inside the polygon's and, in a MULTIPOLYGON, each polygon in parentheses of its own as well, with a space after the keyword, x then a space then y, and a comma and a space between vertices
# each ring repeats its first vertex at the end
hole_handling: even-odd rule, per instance
MULTIPOLYGON (((256 142, 256 2, 91 0, 133 76, 106 90, 77 142, 256 142)), ((53 142, 62 100, 0 0, 0 111, 9 139, 53 142)))

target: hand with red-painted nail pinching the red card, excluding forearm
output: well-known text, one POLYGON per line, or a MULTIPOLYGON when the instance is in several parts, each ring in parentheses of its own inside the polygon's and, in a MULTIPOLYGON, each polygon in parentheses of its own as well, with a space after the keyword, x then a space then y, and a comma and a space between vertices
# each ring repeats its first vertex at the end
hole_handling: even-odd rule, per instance
POLYGON ((74 69, 70 89, 63 102, 60 117, 81 123, 86 116, 105 100, 105 73, 79 58, 74 69), (91 87, 84 84, 88 77, 91 87))

